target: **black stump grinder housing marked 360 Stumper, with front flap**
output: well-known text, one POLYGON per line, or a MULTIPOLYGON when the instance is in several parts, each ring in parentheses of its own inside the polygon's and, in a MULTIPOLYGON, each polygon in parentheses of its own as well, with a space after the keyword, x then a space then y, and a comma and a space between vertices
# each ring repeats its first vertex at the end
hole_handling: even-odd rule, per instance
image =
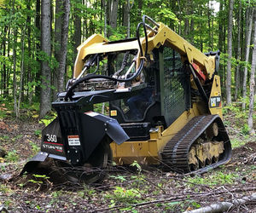
POLYGON ((97 112, 59 112, 42 131, 41 152, 30 159, 20 175, 32 172, 46 158, 68 161, 74 166, 86 163, 102 141, 117 144, 129 139, 119 123, 97 112))

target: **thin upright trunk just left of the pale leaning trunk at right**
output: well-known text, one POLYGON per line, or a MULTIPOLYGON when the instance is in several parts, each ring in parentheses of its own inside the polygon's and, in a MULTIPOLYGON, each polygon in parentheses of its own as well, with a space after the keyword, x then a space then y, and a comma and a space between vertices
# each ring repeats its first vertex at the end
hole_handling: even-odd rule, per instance
MULTIPOLYGON (((241 0, 239 0, 239 12, 238 12, 238 18, 237 18, 237 57, 236 57, 236 60, 241 60, 240 37, 241 37, 241 0)), ((239 65, 239 63, 237 63, 235 101, 237 100, 239 89, 240 89, 240 65, 239 65)))

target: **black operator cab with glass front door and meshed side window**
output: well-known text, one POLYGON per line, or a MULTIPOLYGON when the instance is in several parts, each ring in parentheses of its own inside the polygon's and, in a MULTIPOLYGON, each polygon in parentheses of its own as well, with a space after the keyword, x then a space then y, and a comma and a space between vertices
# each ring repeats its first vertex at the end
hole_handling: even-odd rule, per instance
MULTIPOLYGON (((149 130, 165 129, 190 108, 189 72, 177 51, 167 45, 154 49, 137 83, 137 93, 110 101, 110 116, 118 120, 131 141, 149 139, 149 130)), ((136 82, 135 82, 136 83, 136 82)))

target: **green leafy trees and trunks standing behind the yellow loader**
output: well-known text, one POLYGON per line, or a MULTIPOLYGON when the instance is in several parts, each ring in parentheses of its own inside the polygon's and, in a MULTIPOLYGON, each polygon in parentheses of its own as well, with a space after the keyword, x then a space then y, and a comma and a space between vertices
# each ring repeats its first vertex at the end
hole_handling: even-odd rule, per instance
POLYGON ((44 118, 73 76, 79 44, 94 33, 110 40, 135 37, 147 14, 202 52, 221 51, 222 95, 227 105, 247 112, 244 126, 253 134, 255 5, 255 0, 1 0, 0 103, 18 119, 22 108, 35 108, 44 118))

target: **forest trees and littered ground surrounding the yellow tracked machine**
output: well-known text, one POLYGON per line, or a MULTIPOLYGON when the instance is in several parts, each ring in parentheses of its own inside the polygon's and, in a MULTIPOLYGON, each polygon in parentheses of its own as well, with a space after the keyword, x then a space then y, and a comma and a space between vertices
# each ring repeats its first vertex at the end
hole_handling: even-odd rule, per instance
MULTIPOLYGON (((182 212, 255 194, 255 1, 0 0, 0 211, 182 212), (54 114, 51 101, 73 78, 79 44, 94 33, 109 40, 135 37, 143 14, 202 52, 221 51, 229 164, 191 177, 134 162, 129 170, 113 166, 93 187, 54 184, 45 174, 18 176, 40 150, 54 114)), ((256 212, 253 201, 235 207, 256 212)))

